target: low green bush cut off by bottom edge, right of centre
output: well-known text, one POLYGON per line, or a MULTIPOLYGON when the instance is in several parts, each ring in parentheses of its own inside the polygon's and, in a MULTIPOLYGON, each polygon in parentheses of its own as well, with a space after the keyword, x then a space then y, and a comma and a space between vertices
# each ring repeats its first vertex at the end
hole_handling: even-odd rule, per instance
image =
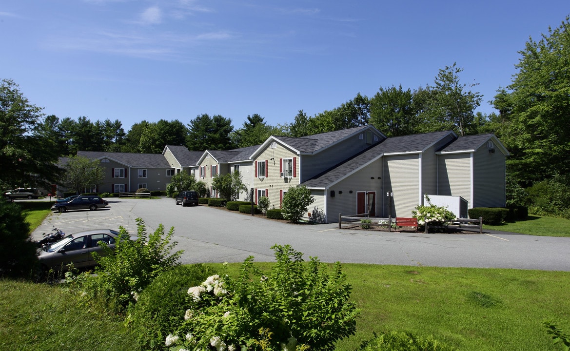
POLYGON ((359 351, 454 351, 433 337, 416 336, 410 332, 388 331, 374 333, 372 340, 364 341, 359 351))

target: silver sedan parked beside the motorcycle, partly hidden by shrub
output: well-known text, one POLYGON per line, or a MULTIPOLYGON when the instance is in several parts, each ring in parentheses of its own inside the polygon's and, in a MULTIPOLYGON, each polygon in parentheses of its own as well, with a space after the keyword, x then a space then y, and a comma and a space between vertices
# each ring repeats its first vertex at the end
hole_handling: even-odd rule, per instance
POLYGON ((67 235, 62 240, 38 249, 38 259, 44 270, 67 270, 67 265, 74 264, 75 268, 96 266, 93 252, 104 255, 104 242, 110 248, 115 248, 115 242, 120 236, 112 229, 92 229, 67 235))

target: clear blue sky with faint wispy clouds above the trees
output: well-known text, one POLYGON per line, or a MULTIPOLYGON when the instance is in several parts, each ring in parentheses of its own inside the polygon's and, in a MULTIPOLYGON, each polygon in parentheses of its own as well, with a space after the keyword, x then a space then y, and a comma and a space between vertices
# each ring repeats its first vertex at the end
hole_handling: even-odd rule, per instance
POLYGON ((208 113, 239 128, 417 89, 457 62, 490 113, 529 36, 568 14, 568 0, 3 0, 0 78, 60 119, 127 131, 208 113))

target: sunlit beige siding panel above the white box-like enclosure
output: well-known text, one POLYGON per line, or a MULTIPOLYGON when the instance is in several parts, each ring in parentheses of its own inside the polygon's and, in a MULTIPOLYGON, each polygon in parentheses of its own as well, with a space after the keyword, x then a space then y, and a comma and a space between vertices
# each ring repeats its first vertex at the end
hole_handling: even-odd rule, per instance
POLYGON ((461 196, 471 205, 471 154, 438 155, 437 195, 461 196))

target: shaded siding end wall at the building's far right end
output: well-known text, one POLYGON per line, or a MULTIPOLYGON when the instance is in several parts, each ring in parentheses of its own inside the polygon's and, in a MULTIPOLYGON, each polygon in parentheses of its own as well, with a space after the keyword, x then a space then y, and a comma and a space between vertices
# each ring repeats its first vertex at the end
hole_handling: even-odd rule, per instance
POLYGON ((489 153, 485 147, 474 153, 474 194, 471 207, 505 206, 504 158, 499 150, 489 153))

